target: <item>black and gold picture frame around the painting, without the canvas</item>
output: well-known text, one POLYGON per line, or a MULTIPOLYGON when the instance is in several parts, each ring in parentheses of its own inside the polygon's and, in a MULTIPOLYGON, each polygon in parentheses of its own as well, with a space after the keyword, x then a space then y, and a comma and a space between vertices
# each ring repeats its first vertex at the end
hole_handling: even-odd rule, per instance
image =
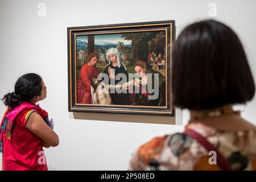
POLYGON ((174 117, 175 110, 172 106, 171 94, 171 51, 172 42, 175 38, 175 21, 142 22, 129 24, 110 24, 102 26, 69 27, 68 28, 68 110, 82 112, 121 113, 121 114, 146 114, 146 115, 169 115, 174 117), (128 106, 128 105, 95 105, 77 104, 76 102, 76 36, 117 34, 126 32, 166 32, 166 106, 128 106), (169 61, 168 61, 169 60, 169 61), (75 94, 74 94, 75 91, 75 94))

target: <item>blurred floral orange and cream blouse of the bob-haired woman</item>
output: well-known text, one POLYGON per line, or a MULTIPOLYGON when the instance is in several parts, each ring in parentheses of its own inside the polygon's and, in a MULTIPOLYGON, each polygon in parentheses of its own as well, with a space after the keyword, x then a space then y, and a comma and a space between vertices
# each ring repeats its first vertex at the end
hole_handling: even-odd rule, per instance
MULTIPOLYGON (((228 160, 233 170, 256 170, 256 131, 218 131, 191 123, 186 128, 203 135, 228 160)), ((212 155, 196 140, 180 134, 156 137, 130 160, 130 170, 220 170, 212 155)))

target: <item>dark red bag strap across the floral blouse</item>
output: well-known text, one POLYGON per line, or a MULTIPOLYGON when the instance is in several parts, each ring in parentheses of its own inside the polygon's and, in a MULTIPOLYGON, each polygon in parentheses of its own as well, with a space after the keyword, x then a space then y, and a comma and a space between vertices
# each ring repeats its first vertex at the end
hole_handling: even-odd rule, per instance
POLYGON ((224 158, 220 151, 217 150, 210 142, 208 142, 207 138, 203 137, 201 134, 197 133, 194 130, 187 129, 183 132, 183 134, 188 135, 189 137, 195 139, 198 143, 200 143, 208 152, 215 151, 217 157, 217 164, 223 171, 232 171, 228 160, 224 158))

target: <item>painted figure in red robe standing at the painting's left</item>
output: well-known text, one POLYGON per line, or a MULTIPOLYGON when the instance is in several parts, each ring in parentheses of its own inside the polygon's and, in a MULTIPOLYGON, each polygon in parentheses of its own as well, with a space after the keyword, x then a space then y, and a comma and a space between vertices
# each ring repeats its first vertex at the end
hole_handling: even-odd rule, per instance
POLYGON ((99 75, 96 63, 98 55, 95 52, 86 56, 87 63, 82 66, 80 76, 77 80, 77 104, 93 104, 91 93, 91 82, 99 75))

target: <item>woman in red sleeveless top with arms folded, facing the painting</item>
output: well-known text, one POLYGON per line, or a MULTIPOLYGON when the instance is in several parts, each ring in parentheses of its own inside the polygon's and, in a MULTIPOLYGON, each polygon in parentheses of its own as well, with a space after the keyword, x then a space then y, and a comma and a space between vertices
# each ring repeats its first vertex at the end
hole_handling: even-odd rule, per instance
POLYGON ((7 106, 0 127, 3 170, 48 170, 43 147, 57 146, 59 137, 50 127, 48 113, 36 105, 46 98, 46 89, 39 75, 28 73, 2 98, 7 106))

